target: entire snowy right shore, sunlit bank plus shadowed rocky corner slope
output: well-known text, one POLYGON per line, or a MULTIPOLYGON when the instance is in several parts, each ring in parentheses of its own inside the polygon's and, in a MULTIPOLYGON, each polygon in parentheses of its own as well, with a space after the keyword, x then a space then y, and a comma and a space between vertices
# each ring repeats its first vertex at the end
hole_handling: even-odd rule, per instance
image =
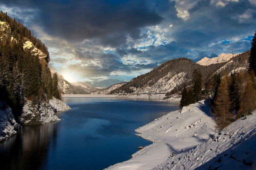
POLYGON ((136 129, 138 136, 153 144, 134 153, 130 160, 107 169, 249 169, 256 158, 252 144, 256 140, 252 137, 256 133, 254 114, 230 124, 219 134, 214 131, 207 104, 191 104, 136 129), (247 140, 249 137, 252 138, 247 140))

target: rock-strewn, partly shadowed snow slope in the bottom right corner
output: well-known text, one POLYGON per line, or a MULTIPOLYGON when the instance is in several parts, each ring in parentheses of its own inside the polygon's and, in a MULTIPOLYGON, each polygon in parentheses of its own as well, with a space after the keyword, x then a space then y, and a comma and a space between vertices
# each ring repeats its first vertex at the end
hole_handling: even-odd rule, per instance
POLYGON ((246 119, 240 118, 196 148, 178 154, 159 167, 182 170, 256 169, 255 114, 256 111, 246 119))

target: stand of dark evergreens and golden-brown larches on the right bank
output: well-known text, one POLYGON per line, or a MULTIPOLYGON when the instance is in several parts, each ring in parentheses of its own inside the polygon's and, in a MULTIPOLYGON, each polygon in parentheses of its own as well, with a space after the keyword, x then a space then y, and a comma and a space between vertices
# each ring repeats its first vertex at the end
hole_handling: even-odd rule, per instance
POLYGON ((244 59, 248 59, 248 69, 233 70, 230 75, 225 71, 226 75, 223 76, 216 72, 207 77, 203 90, 200 72, 195 69, 192 88, 184 86, 180 107, 198 101, 199 93, 211 93, 212 112, 218 129, 223 129, 233 121, 252 114, 256 109, 256 32, 252 38, 250 51, 231 60, 235 60, 235 64, 238 60, 244 63, 244 59), (247 54, 249 57, 244 57, 247 54))

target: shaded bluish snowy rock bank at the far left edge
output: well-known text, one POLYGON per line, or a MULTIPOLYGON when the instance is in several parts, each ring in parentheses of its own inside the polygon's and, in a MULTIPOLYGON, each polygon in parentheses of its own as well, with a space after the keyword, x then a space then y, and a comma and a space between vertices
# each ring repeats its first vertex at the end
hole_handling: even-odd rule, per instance
POLYGON ((0 102, 0 141, 17 133, 21 126, 15 121, 11 108, 0 102))

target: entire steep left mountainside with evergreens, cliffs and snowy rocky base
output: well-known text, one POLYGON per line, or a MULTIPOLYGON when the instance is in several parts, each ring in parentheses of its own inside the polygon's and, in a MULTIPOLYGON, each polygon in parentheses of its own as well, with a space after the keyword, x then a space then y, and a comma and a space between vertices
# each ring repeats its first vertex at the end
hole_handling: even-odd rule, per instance
POLYGON ((51 75, 49 61, 41 40, 1 11, 0 140, 15 134, 20 125, 56 121, 57 110, 71 109, 59 100, 58 77, 51 75))

